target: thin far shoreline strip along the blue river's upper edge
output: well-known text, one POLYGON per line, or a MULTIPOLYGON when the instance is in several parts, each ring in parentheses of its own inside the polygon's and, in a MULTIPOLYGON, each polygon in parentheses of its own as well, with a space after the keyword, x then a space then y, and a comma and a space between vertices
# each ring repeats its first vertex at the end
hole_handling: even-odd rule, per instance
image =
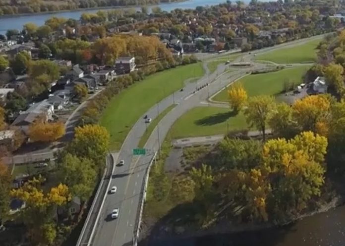
POLYGON ((45 15, 45 14, 58 14, 58 13, 65 13, 65 12, 79 12, 83 10, 104 10, 104 9, 118 9, 118 8, 137 8, 137 7, 152 7, 152 6, 159 6, 159 4, 172 4, 176 2, 182 2, 188 0, 174 0, 170 2, 160 2, 158 4, 148 4, 148 5, 124 5, 124 6, 104 6, 104 7, 90 7, 90 8, 76 8, 76 9, 65 9, 65 10, 58 10, 58 11, 45 11, 45 12, 35 12, 35 13, 22 13, 22 14, 4 14, 0 15, 0 19, 4 18, 14 18, 18 16, 32 16, 32 15, 45 15))

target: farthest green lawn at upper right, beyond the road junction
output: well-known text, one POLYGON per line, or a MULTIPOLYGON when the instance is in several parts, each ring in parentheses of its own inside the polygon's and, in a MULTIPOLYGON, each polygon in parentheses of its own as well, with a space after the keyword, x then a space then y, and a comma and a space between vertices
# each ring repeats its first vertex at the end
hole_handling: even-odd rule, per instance
POLYGON ((312 40, 302 45, 291 48, 277 49, 264 54, 259 54, 256 59, 268 60, 276 63, 304 63, 315 62, 317 46, 322 39, 312 40))

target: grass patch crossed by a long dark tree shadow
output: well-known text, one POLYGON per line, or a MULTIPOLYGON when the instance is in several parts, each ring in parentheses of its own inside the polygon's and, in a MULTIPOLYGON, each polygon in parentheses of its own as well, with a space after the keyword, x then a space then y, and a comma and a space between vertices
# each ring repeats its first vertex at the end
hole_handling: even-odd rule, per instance
POLYGON ((173 124, 170 132, 173 139, 185 137, 227 134, 228 131, 248 127, 242 113, 233 115, 230 108, 195 107, 183 114, 173 124))

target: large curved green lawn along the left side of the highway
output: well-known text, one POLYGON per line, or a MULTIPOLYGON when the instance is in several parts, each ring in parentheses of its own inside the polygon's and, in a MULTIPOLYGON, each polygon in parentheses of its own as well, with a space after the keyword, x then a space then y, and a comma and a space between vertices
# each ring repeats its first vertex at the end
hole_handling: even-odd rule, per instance
POLYGON ((100 119, 110 133, 110 149, 119 149, 129 130, 150 107, 183 87, 183 82, 204 74, 202 63, 169 69, 148 76, 116 95, 100 119))

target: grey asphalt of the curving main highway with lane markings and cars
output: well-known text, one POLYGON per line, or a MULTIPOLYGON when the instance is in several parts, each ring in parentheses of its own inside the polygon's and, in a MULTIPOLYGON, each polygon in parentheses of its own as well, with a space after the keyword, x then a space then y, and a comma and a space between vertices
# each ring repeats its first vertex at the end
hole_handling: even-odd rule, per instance
MULTIPOLYGON (((312 37, 309 39, 298 40, 289 44, 282 44, 276 47, 261 49, 252 54, 244 54, 235 61, 251 61, 254 53, 263 53, 274 49, 282 49, 300 45, 319 37, 312 37)), ((224 54, 222 54, 224 55, 224 54)), ((212 57, 213 58, 213 57, 212 57)), ((149 137, 144 148, 150 150, 150 153, 145 156, 132 155, 132 149, 136 148, 141 136, 144 134, 146 126, 144 119, 139 119, 125 139, 122 148, 119 152, 118 161, 123 159, 124 166, 115 167, 111 187, 116 186, 117 192, 114 195, 107 195, 105 205, 101 211, 101 216, 96 225, 95 237, 92 241, 93 246, 131 246, 133 245, 135 223, 138 216, 138 208, 140 204, 140 192, 144 182, 145 171, 152 159, 154 151, 159 149, 167 135, 169 129, 176 119, 187 112, 189 109, 200 106, 201 101, 205 101, 211 95, 215 94, 229 84, 229 81, 234 81, 246 74, 247 71, 260 69, 265 67, 265 64, 254 63, 253 66, 238 69, 235 72, 224 72, 227 66, 221 64, 213 74, 209 74, 206 64, 205 76, 195 83, 186 85, 183 92, 175 92, 158 104, 150 108, 144 115, 149 115, 154 119, 159 112, 172 105, 173 102, 178 105, 175 106, 158 124, 149 137), (215 81, 214 81, 215 80, 215 81), (214 81, 213 83, 210 83, 214 81), (196 91, 202 85, 206 85, 202 90, 196 91), (159 131, 158 131, 159 128, 159 131), (114 208, 119 208, 119 217, 115 220, 110 219, 110 213, 114 208)), ((117 162, 118 162, 117 161, 117 162)))

